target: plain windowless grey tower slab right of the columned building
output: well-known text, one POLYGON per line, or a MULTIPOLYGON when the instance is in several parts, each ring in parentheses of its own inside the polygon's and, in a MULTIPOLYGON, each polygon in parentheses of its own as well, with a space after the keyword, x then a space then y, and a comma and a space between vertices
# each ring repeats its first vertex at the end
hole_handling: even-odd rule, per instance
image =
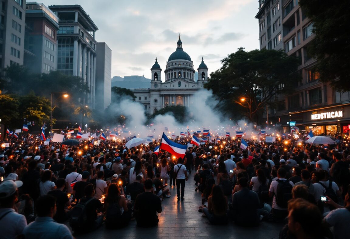
POLYGON ((104 42, 96 49, 96 109, 105 109, 111 104, 112 50, 104 42))

